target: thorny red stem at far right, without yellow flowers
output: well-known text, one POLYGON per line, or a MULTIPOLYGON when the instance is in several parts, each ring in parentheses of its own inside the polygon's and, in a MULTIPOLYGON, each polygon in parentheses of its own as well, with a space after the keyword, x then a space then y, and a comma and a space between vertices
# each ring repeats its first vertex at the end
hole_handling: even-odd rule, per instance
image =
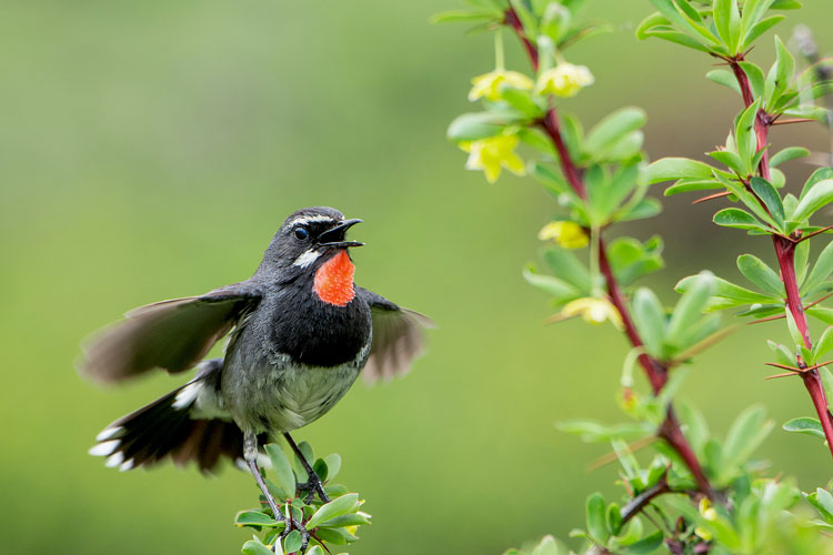
MULTIPOLYGON (((754 95, 752 94, 752 88, 750 87, 749 78, 740 65, 742 57, 726 59, 729 64, 732 67, 737 84, 741 87, 741 95, 743 97, 743 103, 749 108, 754 102, 754 95)), ((757 117, 755 118, 755 138, 757 139, 757 150, 765 149, 767 142, 767 134, 772 125, 772 118, 763 110, 759 109, 757 117)), ((766 152, 764 152, 761 163, 759 165, 759 172, 765 180, 770 179, 770 160, 766 152)), ((806 349, 812 349, 813 343, 810 339, 810 326, 807 324, 807 316, 804 313, 804 306, 801 301, 801 293, 799 291, 799 282, 795 278, 795 243, 784 238, 773 235, 772 242, 775 248, 775 255, 777 256, 779 268, 781 269, 781 280, 784 282, 784 291, 786 292, 786 306, 795 321, 795 326, 799 329, 802 342, 806 349)), ((803 366, 805 362, 799 359, 799 366, 803 366)), ((813 402, 813 407, 819 415, 822 430, 824 431, 824 437, 827 441, 827 448, 830 448, 831 455, 833 455, 833 414, 827 408, 827 397, 824 393, 821 376, 819 370, 813 369, 801 374, 804 381, 804 387, 810 394, 810 398, 813 402)))

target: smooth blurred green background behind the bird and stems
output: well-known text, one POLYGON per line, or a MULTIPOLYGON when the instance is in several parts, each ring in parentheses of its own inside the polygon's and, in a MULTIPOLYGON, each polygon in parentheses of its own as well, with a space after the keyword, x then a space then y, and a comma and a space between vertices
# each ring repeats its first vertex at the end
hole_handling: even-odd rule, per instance
MULTIPOLYGON (((782 23, 817 24, 833 4, 782 23)), ((545 297, 521 279, 554 205, 530 180, 488 185, 444 139, 469 108, 469 79, 492 68, 484 36, 431 26, 456 0, 7 0, 0 9, 0 312, 3 553, 239 553, 238 509, 251 477, 170 465, 118 473, 87 455, 110 421, 183 379, 119 390, 80 379, 79 341, 124 311, 247 278, 293 210, 339 208, 353 233, 357 279, 433 316, 431 352, 405 380, 354 390, 297 433, 344 457, 373 526, 351 553, 499 554, 565 535, 583 498, 612 492, 605 453, 555 431, 591 415, 620 418, 623 339, 580 322, 544 326, 545 297)), ((648 110, 653 158, 722 142, 739 99, 707 83, 710 60, 633 28, 648 1, 595 0, 615 32, 573 51, 596 84, 570 109, 586 122, 624 104, 648 110)), ((823 27, 822 27, 823 26, 823 27)), ((821 32, 825 31, 825 32, 821 32)), ((526 69, 511 46, 510 60, 526 69)), ((764 41, 771 43, 771 38, 764 41)), ((771 48, 753 52, 769 65, 771 48)), ((776 144, 823 150, 821 128, 779 128, 776 144)), ((810 168, 787 168, 800 186, 810 168)), ((659 190, 658 190, 659 193, 659 190)), ((737 253, 767 244, 710 224, 714 206, 672 198, 630 230, 666 238, 652 284, 702 268, 735 276, 737 253), (743 251, 742 251, 743 250, 743 251)), ((702 356, 684 386, 713 428, 763 402, 783 422, 811 413, 797 381, 764 382, 764 337, 742 327, 702 356)), ((826 450, 773 433, 761 455, 801 477, 831 476, 826 450)))

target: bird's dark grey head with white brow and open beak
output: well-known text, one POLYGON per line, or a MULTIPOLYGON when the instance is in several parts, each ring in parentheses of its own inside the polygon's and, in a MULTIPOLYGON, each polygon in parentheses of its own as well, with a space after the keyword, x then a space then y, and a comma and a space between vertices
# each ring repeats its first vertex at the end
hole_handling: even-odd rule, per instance
POLYGON ((334 256, 364 243, 347 241, 347 231, 361 220, 345 220, 335 209, 301 209, 284 220, 263 256, 261 270, 281 269, 290 275, 315 272, 334 256))

